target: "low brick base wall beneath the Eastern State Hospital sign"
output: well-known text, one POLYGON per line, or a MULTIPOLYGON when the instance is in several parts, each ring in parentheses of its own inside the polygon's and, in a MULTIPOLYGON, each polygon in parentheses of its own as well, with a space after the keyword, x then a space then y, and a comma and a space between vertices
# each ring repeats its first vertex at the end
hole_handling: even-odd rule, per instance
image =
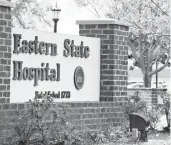
MULTIPOLYGON (((71 106, 71 122, 77 128, 93 130, 105 128, 108 125, 119 125, 124 121, 121 102, 78 102, 65 103, 71 106)), ((58 109, 59 103, 53 105, 58 109)), ((0 144, 15 140, 12 118, 29 108, 29 104, 0 104, 0 144)))

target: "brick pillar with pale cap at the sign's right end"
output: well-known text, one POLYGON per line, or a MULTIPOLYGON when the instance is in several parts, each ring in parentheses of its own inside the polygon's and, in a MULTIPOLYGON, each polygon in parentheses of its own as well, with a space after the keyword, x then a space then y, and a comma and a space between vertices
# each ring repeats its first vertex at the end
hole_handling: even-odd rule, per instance
MULTIPOLYGON (((100 101, 121 101, 127 96, 129 26, 116 20, 82 20, 81 36, 101 38, 100 101)), ((92 48, 93 49, 93 48, 92 48)))

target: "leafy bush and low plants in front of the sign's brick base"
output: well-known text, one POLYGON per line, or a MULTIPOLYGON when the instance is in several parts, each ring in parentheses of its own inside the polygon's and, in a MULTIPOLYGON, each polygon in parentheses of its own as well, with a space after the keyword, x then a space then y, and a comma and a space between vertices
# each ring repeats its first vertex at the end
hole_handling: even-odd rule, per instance
POLYGON ((129 140, 127 126, 108 126, 104 130, 77 129, 70 121, 70 106, 55 108, 50 96, 29 101, 28 111, 13 118, 13 142, 8 145, 96 145, 129 140))

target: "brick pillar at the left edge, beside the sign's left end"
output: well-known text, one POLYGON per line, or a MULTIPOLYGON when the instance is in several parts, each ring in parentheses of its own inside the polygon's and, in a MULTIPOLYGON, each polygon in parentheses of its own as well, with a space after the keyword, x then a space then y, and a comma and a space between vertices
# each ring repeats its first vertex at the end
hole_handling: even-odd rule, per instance
POLYGON ((0 104, 10 102, 12 6, 10 0, 0 0, 0 104))

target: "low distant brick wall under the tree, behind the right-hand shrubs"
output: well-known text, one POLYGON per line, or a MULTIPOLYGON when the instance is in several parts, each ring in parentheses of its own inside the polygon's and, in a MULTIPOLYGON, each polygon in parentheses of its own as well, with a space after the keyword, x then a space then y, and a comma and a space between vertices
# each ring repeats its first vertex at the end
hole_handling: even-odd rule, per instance
POLYGON ((161 93, 166 92, 167 89, 156 88, 129 88, 128 96, 134 95, 135 92, 139 92, 139 96, 142 100, 148 104, 163 104, 161 99, 161 93))

